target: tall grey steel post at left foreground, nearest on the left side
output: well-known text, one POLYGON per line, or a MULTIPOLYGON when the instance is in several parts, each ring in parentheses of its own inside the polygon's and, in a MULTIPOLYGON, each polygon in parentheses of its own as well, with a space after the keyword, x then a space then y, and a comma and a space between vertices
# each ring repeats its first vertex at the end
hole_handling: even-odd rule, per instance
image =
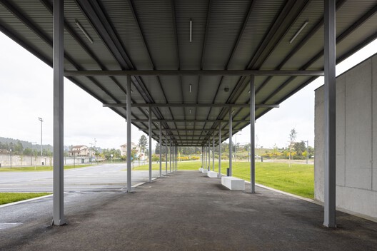
POLYGON ((64 225, 64 1, 54 0, 54 209, 53 225, 64 225))

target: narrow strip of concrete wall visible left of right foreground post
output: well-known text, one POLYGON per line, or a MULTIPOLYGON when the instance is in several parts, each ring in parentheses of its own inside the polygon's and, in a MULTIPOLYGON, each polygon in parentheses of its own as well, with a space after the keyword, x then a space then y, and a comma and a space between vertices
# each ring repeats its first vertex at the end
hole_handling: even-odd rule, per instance
POLYGON ((314 111, 314 198, 324 200, 324 103, 323 86, 316 89, 314 111))

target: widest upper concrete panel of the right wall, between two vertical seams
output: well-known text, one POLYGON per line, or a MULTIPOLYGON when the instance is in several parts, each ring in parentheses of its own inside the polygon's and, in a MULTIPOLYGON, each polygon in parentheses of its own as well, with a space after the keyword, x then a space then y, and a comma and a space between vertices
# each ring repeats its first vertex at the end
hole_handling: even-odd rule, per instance
POLYGON ((371 189, 371 60, 346 73, 346 186, 371 189))

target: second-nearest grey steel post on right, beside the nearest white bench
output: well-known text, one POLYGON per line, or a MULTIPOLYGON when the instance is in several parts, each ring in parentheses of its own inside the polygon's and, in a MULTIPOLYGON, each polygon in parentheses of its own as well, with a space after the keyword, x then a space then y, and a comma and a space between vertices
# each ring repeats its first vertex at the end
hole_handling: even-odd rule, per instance
POLYGON ((255 193, 255 84, 250 76, 250 183, 251 193, 255 193))

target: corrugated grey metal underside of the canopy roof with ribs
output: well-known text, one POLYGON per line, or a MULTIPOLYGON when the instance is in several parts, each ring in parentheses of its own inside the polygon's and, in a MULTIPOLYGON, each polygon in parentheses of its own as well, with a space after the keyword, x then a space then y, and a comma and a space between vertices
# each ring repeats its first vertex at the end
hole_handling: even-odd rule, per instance
MULTIPOLYGON (((52 8, 49 0, 0 1, 0 30, 50 66, 52 8)), ((64 8, 66 71, 323 71, 322 0, 66 0, 64 8)), ((376 39, 377 1, 339 0, 336 9, 339 62, 376 39)), ((247 74, 156 75, 131 77, 137 128, 148 133, 142 104, 175 104, 152 106, 155 140, 160 121, 163 143, 167 133, 176 145, 208 144, 219 126, 226 140, 229 109, 233 133, 248 126, 247 74)), ((256 118, 316 77, 257 75, 256 118)), ((111 109, 126 118, 126 76, 68 78, 102 103, 119 104, 111 109)))

